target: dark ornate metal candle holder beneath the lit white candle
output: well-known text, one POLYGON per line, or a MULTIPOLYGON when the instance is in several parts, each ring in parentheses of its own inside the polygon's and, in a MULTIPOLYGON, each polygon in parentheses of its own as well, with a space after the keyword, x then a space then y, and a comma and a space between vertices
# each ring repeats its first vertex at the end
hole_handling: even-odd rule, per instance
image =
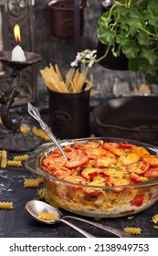
MULTIPOLYGON (((25 52, 26 61, 12 61, 11 54, 11 50, 0 51, 0 61, 13 69, 10 75, 11 84, 9 89, 0 91, 1 118, 4 124, 4 127, 3 125, 0 127, 0 148, 15 152, 30 151, 41 144, 41 139, 33 134, 31 130, 28 133, 21 133, 20 126, 24 122, 26 112, 24 108, 21 108, 17 117, 17 114, 15 115, 10 108, 18 94, 21 70, 41 61, 41 56, 34 52, 25 52)), ((29 121, 26 121, 25 125, 29 125, 29 121)))

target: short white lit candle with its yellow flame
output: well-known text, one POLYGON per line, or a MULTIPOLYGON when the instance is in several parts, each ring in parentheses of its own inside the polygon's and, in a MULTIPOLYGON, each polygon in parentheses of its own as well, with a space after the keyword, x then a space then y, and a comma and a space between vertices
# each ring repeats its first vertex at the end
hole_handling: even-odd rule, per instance
MULTIPOLYGON (((21 41, 21 37, 20 37, 20 27, 16 24, 16 26, 14 27, 14 34, 16 37, 16 41, 18 43, 20 43, 21 41)), ((11 59, 13 61, 26 61, 26 56, 24 53, 24 50, 17 45, 13 50, 12 50, 12 56, 11 59)))

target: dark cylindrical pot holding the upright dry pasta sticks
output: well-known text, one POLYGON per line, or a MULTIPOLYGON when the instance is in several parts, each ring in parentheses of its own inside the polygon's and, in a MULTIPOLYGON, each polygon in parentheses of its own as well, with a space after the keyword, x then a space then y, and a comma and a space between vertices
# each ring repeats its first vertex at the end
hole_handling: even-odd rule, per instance
POLYGON ((90 91, 60 93, 49 91, 49 121, 59 139, 90 136, 90 91))

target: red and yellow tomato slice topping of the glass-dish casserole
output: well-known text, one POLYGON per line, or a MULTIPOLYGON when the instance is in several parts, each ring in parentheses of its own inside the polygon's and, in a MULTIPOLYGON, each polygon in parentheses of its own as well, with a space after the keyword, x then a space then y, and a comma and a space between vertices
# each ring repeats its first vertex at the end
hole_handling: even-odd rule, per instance
MULTIPOLYGON (((141 146, 94 140, 67 145, 63 150, 68 161, 56 149, 43 160, 43 168, 51 176, 74 183, 112 187, 112 191, 120 192, 124 189, 122 186, 158 177, 158 156, 150 155, 141 146)), ((93 196, 99 192, 91 187, 85 191, 93 196)), ((141 205, 142 196, 135 197, 132 204, 141 205)))

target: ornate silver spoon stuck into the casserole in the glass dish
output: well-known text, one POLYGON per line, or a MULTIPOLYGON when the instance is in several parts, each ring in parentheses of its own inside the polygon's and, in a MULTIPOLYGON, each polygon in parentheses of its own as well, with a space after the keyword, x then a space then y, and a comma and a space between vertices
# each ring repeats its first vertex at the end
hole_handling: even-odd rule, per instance
POLYGON ((58 143, 58 140, 56 139, 55 135, 50 132, 50 129, 47 126, 47 123, 45 123, 42 120, 37 108, 34 107, 30 102, 28 102, 27 110, 28 110, 29 114, 32 115, 37 120, 37 122, 40 124, 41 128, 47 133, 47 136, 49 136, 49 138, 54 142, 54 144, 56 144, 56 146, 58 147, 58 150, 61 152, 61 154, 64 156, 64 158, 66 160, 68 160, 67 155, 65 155, 65 152, 62 150, 62 147, 58 143))

